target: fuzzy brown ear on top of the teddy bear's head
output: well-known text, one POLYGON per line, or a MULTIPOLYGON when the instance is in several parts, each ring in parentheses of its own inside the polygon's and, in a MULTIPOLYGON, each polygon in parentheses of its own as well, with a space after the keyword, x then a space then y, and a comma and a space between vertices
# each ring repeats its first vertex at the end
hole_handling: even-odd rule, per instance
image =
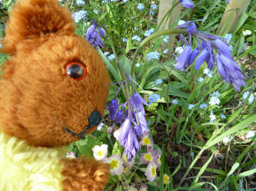
POLYGON ((42 36, 71 35, 74 21, 58 0, 18 0, 12 8, 2 41, 2 52, 15 54, 19 43, 42 36))

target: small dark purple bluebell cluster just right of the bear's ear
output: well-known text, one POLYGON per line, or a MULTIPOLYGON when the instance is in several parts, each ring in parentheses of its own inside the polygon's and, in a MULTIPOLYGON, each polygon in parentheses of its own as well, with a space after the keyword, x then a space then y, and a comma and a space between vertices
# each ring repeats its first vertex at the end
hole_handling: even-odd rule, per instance
POLYGON ((86 40, 96 49, 98 49, 99 45, 104 48, 105 45, 101 37, 105 38, 105 31, 95 21, 92 21, 92 23, 86 33, 86 40), (98 31, 96 31, 96 28, 98 28, 98 31))

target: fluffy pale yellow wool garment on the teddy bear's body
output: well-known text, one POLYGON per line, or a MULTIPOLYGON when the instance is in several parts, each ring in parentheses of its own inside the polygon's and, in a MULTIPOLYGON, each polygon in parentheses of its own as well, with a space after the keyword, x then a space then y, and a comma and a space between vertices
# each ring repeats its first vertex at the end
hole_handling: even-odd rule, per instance
POLYGON ((0 191, 61 191, 65 153, 65 147, 32 147, 0 131, 0 191))

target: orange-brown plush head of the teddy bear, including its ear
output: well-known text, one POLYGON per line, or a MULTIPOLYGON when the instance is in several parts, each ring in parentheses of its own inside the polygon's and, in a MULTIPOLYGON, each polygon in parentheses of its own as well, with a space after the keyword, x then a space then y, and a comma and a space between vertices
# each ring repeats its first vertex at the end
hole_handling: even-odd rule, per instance
POLYGON ((33 146, 79 140, 100 123, 110 79, 58 0, 20 0, 2 41, 0 130, 33 146))

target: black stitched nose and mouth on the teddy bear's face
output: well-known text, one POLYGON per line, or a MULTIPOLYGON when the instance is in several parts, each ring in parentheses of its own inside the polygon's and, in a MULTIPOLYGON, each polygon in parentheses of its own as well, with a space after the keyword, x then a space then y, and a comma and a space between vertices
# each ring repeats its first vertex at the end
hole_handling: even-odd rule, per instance
POLYGON ((87 131, 91 128, 91 127, 95 127, 98 126, 98 124, 101 122, 101 114, 98 112, 98 110, 94 110, 91 112, 90 117, 88 118, 88 126, 85 127, 85 130, 81 131, 81 133, 74 133, 73 131, 71 131, 70 129, 68 129, 68 127, 65 127, 65 131, 67 131, 68 133, 71 133, 71 135, 73 136, 77 136, 80 139, 84 140, 85 139, 85 134, 87 133, 87 131))

